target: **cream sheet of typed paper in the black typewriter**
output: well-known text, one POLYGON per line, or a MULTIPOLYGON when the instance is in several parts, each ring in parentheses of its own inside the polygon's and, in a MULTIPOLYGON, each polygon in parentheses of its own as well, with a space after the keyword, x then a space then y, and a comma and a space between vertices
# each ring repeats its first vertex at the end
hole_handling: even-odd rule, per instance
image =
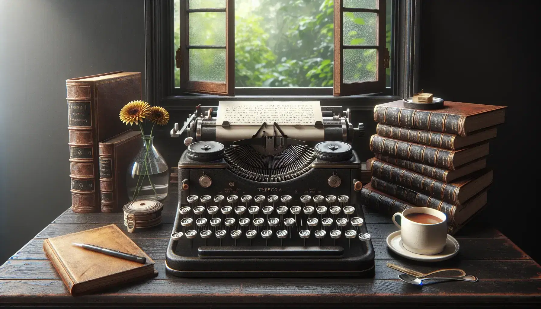
MULTIPOLYGON (((273 135, 273 123, 279 124, 289 138, 301 141, 323 141, 324 128, 316 128, 316 121, 323 121, 318 101, 220 101, 216 117, 216 141, 251 139, 263 122, 267 136, 273 135), (229 122, 229 128, 221 124, 229 122)), ((276 133, 280 135, 279 132, 276 133)))

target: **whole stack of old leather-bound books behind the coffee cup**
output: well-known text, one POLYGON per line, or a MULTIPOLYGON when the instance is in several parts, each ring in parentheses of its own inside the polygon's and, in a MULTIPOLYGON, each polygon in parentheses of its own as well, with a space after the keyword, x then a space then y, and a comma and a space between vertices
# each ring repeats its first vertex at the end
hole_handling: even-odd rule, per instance
POLYGON ((445 101, 444 108, 423 110, 400 100, 375 106, 374 120, 364 205, 388 215, 416 206, 438 209, 450 234, 486 205, 493 176, 486 165, 489 140, 505 120, 505 107, 445 101))

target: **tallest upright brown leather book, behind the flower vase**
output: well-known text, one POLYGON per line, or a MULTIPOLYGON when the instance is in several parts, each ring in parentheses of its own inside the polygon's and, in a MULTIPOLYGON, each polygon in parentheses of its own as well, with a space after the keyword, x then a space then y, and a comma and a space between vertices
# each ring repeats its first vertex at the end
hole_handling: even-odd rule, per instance
POLYGON ((99 211, 98 142, 128 129, 118 120, 124 104, 141 100, 141 73, 111 72, 66 80, 71 208, 99 211))

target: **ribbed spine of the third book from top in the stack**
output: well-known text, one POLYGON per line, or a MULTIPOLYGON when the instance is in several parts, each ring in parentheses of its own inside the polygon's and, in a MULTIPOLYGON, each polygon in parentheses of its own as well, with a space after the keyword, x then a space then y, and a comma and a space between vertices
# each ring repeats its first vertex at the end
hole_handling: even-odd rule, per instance
POLYGON ((370 138, 373 153, 388 155, 398 159, 410 160, 430 166, 454 170, 454 150, 423 146, 420 144, 388 139, 379 135, 370 138))

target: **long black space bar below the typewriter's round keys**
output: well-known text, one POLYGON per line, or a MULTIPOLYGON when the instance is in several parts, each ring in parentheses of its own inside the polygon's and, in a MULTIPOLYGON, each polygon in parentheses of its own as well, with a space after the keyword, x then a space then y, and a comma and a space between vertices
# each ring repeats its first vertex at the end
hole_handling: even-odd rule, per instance
POLYGON ((344 248, 340 246, 202 246, 200 258, 341 258, 344 248))

